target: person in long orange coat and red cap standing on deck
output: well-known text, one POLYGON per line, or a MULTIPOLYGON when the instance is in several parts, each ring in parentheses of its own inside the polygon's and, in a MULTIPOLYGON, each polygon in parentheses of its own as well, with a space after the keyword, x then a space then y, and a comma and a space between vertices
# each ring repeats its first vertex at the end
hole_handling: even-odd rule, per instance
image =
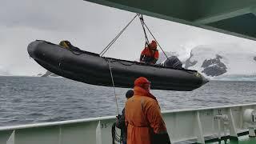
POLYGON ((170 144, 157 99, 150 94, 150 82, 134 81, 134 96, 126 101, 127 144, 170 144))

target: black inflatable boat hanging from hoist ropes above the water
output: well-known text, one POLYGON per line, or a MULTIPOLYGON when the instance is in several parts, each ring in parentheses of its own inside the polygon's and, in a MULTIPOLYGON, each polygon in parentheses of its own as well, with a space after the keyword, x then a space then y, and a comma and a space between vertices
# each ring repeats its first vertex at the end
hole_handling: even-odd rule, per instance
POLYGON ((208 82, 196 70, 100 57, 99 54, 78 48, 68 49, 42 40, 31 42, 27 50, 30 57, 46 70, 92 85, 113 86, 111 73, 114 86, 126 88, 132 88, 138 77, 148 78, 154 90, 190 91, 208 82))

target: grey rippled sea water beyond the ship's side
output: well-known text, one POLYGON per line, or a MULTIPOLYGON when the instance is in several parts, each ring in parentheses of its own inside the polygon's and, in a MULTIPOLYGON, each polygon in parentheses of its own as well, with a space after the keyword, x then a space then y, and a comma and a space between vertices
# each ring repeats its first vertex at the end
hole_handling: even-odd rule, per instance
MULTIPOLYGON (((151 90, 162 110, 256 102, 256 82, 210 81, 189 92, 151 90)), ((116 88, 119 111, 126 98, 116 88)), ((117 114, 114 89, 66 78, 0 77, 0 126, 54 122, 117 114)))

